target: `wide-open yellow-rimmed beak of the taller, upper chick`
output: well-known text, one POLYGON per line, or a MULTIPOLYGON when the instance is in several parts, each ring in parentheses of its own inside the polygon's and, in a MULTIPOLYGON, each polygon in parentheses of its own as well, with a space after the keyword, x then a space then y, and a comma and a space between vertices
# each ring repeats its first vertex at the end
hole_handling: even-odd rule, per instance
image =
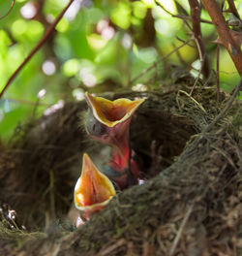
POLYGON ((94 97, 88 92, 85 93, 86 102, 94 117, 107 127, 114 127, 130 119, 144 99, 135 101, 121 98, 114 101, 102 97, 94 97))

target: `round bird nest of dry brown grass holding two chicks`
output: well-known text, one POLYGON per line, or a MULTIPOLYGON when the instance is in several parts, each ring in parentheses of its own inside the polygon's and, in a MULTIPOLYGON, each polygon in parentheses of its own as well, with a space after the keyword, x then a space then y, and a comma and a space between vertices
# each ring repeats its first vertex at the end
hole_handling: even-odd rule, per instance
POLYGON ((78 230, 67 215, 81 154, 102 146, 80 128, 85 103, 66 103, 18 127, 11 144, 0 147, 0 254, 241 254, 238 106, 211 126, 227 96, 216 107, 214 88, 189 91, 104 95, 146 98, 131 124, 146 181, 118 193, 78 230))

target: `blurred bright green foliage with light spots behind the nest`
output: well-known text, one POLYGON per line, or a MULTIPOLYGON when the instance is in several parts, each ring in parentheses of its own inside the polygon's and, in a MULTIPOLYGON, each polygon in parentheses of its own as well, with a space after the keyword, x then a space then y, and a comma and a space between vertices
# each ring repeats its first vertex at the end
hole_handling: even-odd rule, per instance
MULTIPOLYGON (((189 15, 188 1, 161 0, 174 15, 189 15)), ((12 12, 0 20, 0 90, 43 37, 45 30, 67 5, 62 0, 16 0, 12 12)), ((235 1, 238 11, 242 3, 235 1)), ((0 0, 0 16, 11 8, 0 0)), ((202 11, 202 18, 210 19, 202 11)), ((201 24, 206 49, 216 65, 214 26, 201 24)), ((58 23, 45 46, 25 65, 0 99, 0 139, 8 140, 18 122, 54 111, 63 101, 81 100, 83 92, 103 92, 131 87, 130 80, 159 57, 187 41, 184 22, 169 16, 152 0, 76 0, 58 23)), ((168 80, 166 68, 197 63, 196 48, 186 46, 159 67, 160 80, 168 80)), ((239 80, 225 49, 221 51, 220 79, 231 90, 239 80)), ((137 82, 154 89, 150 73, 137 82)), ((142 86, 138 88, 143 88, 142 86)))

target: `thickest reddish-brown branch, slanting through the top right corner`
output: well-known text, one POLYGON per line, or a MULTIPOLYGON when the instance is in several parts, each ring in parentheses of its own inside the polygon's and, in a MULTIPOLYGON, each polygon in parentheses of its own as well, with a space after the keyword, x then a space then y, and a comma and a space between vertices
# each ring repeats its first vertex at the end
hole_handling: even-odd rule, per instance
POLYGON ((230 29, 227 26, 227 22, 225 17, 222 15, 217 3, 215 0, 202 0, 202 3, 209 14, 211 16, 213 23, 216 27, 216 30, 219 34, 220 39, 223 42, 225 48, 233 60, 233 63, 239 73, 242 75, 242 52, 240 49, 240 45, 234 41, 230 34, 230 29))

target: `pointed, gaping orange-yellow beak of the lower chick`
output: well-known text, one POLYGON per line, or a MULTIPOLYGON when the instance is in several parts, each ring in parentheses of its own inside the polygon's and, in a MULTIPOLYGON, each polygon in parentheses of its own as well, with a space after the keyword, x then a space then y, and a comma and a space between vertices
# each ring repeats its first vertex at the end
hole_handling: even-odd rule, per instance
POLYGON ((85 218, 105 208, 115 195, 111 181, 94 165, 90 157, 84 153, 81 176, 75 186, 75 206, 85 213, 85 218))

